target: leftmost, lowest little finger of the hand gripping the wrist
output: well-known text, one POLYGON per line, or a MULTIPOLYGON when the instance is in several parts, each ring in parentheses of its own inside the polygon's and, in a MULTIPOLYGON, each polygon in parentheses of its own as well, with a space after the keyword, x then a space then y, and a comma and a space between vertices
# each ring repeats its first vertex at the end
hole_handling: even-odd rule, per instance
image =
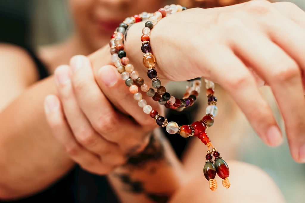
POLYGON ((98 156, 84 149, 74 139, 57 96, 46 96, 44 106, 45 115, 53 135, 76 163, 86 170, 99 174, 106 174, 112 170, 112 168, 102 166, 98 156))

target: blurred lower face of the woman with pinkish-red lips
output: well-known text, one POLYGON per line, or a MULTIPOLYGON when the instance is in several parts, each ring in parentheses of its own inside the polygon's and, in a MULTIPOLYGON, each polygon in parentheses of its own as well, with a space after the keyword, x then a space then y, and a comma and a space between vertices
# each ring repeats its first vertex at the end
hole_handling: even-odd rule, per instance
POLYGON ((110 36, 125 18, 141 12, 155 12, 164 0, 69 0, 77 34, 96 50, 109 43, 110 36))

